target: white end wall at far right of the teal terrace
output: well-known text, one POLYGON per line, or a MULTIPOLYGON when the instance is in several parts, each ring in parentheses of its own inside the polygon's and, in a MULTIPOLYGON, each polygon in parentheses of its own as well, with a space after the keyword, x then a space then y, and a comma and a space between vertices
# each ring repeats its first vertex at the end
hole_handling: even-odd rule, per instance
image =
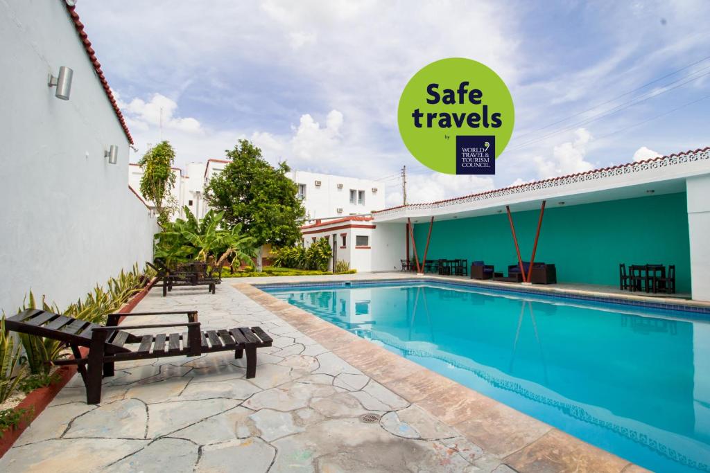
POLYGON ((710 174, 686 180, 693 299, 710 301, 710 174))

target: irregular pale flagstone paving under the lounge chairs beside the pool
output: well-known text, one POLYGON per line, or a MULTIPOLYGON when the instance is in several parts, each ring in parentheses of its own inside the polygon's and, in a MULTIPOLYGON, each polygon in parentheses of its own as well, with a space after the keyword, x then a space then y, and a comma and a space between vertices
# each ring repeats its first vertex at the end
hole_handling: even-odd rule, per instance
MULTIPOLYGON (((104 379, 102 403, 87 406, 74 377, 0 471, 513 471, 229 284, 214 295, 153 289, 136 311, 183 309, 199 311, 202 328, 271 334, 256 378, 245 379, 245 360, 231 352, 121 362, 104 379), (367 413, 379 421, 361 421, 367 413)), ((182 322, 125 323, 168 318, 182 322)))

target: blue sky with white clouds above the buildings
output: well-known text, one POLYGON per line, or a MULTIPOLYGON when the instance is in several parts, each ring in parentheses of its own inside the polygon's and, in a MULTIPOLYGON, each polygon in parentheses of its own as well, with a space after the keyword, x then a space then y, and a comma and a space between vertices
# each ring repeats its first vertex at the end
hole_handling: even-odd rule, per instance
POLYGON ((382 179, 396 205, 402 165, 409 201, 431 201, 710 145, 706 0, 80 0, 77 12, 132 161, 160 138, 180 167, 248 138, 271 162, 382 179), (513 95, 494 177, 430 172, 399 136, 404 85, 443 57, 484 62, 513 95))

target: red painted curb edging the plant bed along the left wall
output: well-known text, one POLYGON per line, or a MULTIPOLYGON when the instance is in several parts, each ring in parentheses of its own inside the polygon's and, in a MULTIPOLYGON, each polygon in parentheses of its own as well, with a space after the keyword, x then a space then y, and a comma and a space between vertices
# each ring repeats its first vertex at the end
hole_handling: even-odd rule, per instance
MULTIPOLYGON (((138 305, 138 302, 142 301, 143 297, 148 294, 148 291, 151 290, 156 281, 156 278, 151 279, 151 281, 148 282, 148 284, 146 284, 146 286, 144 286, 138 294, 133 296, 130 301, 126 302, 126 304, 119 309, 119 312, 133 311, 133 309, 138 305)), ((125 317, 121 317, 119 319, 119 323, 121 323, 124 318, 125 317)), ((82 357, 87 356, 87 353, 89 352, 89 349, 86 347, 80 347, 79 350, 82 353, 82 357)), ((35 418, 42 413, 42 411, 45 410, 45 407, 52 402, 55 396, 64 386, 66 386, 76 372, 77 367, 75 366, 59 367, 56 371, 56 373, 59 374, 58 382, 50 384, 50 386, 35 389, 15 407, 16 411, 26 409, 28 411, 26 414, 26 416, 28 416, 28 420, 21 422, 16 428, 4 430, 2 432, 2 438, 0 438, 0 458, 5 455, 5 452, 10 450, 12 445, 20 437, 20 435, 22 435, 25 429, 30 426, 32 421, 34 421, 35 418)))

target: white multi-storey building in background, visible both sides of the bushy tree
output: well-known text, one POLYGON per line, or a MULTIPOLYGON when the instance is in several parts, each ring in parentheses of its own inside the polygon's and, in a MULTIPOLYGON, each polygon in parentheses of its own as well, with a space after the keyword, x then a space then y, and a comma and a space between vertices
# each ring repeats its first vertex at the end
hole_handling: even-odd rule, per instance
MULTIPOLYGON (((198 218, 207 213, 209 206, 204 200, 204 186, 228 163, 227 160, 191 162, 184 174, 179 168, 173 168, 178 179, 175 179, 172 195, 180 206, 180 212, 173 215, 173 219, 184 216, 182 206, 189 207, 198 218)), ((129 173, 131 187, 139 192, 143 175, 141 167, 132 164, 129 173)), ((310 221, 366 214, 385 206, 385 187, 371 179, 305 171, 292 171, 286 175, 298 185, 297 196, 310 221)), ((152 203, 148 201, 148 205, 152 206, 152 203)))

